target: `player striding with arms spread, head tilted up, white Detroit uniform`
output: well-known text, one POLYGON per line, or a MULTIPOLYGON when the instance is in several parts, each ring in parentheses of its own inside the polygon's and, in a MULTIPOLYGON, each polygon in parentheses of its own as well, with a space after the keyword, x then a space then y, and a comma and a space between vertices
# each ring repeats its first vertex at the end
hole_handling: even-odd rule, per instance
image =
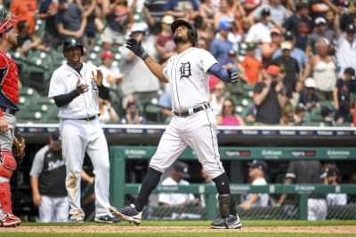
POLYGON ((150 160, 150 169, 143 179, 140 194, 129 207, 110 207, 116 216, 140 225, 142 209, 159 178, 187 146, 197 154, 206 173, 213 178, 219 193, 221 218, 213 228, 239 228, 241 222, 231 199, 230 181, 220 162, 216 138, 216 122, 209 104, 209 76, 215 75, 225 83, 237 83, 239 76, 220 65, 213 55, 195 48, 197 30, 185 20, 171 25, 177 54, 168 59, 166 67, 159 65, 142 48, 141 42, 131 38, 126 47, 142 58, 150 71, 163 83, 169 83, 174 117, 163 134, 156 154, 150 160))

